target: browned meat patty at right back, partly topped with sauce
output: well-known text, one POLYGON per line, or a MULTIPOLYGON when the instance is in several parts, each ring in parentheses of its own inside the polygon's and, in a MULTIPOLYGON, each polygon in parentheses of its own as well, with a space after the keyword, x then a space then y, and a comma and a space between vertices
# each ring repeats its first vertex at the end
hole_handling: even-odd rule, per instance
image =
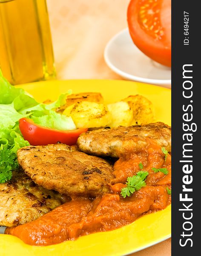
POLYGON ((171 127, 162 122, 106 127, 81 134, 77 145, 88 154, 122 157, 126 152, 141 151, 151 140, 171 152, 171 127))

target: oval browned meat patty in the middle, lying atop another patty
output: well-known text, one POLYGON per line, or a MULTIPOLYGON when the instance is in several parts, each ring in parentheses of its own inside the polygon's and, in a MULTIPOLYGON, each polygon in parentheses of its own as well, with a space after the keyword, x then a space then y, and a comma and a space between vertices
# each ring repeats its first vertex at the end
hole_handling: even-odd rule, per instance
POLYGON ((96 196, 110 191, 112 166, 105 160, 64 144, 28 146, 17 159, 35 183, 61 194, 96 196))

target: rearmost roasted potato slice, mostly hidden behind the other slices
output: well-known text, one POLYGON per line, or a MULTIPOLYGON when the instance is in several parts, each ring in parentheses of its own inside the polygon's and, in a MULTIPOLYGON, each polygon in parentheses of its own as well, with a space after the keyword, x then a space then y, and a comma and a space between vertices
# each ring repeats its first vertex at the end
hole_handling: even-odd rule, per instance
POLYGON ((100 93, 76 93, 66 97, 66 104, 57 108, 57 112, 62 113, 68 106, 77 102, 98 102, 103 103, 103 97, 100 93))

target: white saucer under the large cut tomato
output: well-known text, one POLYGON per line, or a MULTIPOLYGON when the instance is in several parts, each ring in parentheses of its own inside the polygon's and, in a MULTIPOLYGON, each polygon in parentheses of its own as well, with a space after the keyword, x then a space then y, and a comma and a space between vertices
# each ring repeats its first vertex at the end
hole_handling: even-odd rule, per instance
POLYGON ((109 41, 104 58, 106 64, 125 79, 171 88, 171 68, 144 55, 133 43, 128 29, 109 41))

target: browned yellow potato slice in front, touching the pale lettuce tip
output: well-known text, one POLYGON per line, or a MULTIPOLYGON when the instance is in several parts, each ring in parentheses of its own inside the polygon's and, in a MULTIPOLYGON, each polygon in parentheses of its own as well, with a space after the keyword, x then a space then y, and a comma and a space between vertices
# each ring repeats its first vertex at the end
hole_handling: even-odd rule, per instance
POLYGON ((111 122, 107 106, 97 102, 74 103, 67 107, 63 114, 71 116, 77 128, 103 127, 111 122))

